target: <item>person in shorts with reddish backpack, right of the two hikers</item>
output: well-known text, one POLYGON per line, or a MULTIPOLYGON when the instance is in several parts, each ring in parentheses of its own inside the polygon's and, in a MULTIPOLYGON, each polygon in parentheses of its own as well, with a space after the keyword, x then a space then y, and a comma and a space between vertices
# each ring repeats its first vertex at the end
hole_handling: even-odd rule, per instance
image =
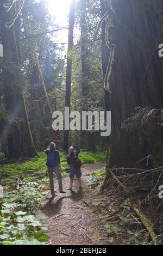
POLYGON ((69 154, 67 156, 67 163, 70 164, 70 188, 69 190, 72 191, 72 185, 73 185, 73 179, 74 175, 76 175, 78 179, 78 184, 79 184, 79 189, 82 190, 82 183, 80 177, 82 176, 81 173, 81 161, 78 159, 78 155, 80 153, 80 149, 72 143, 70 149, 69 149, 69 154))

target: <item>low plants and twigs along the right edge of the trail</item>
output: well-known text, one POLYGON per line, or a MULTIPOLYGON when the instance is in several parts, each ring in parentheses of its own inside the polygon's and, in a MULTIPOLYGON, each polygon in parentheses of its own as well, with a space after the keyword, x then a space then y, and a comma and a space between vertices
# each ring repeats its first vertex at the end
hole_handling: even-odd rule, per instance
POLYGON ((103 169, 92 173, 88 182, 91 198, 87 203, 106 229, 110 245, 148 245, 148 232, 131 209, 129 200, 121 198, 114 187, 99 192, 104 175, 103 169))

